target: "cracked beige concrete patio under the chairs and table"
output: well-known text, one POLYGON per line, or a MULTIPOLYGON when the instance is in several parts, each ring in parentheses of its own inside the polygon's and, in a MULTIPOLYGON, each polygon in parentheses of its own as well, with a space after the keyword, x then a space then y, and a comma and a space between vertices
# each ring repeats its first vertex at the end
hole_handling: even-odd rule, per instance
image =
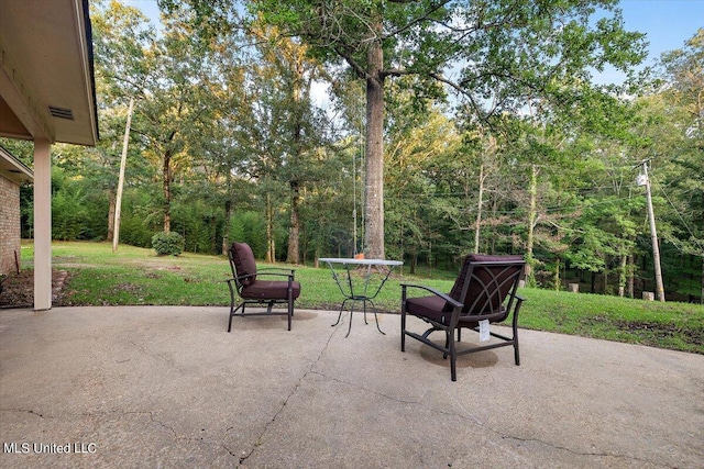
POLYGON ((398 315, 336 319, 0 310, 0 467, 704 467, 704 356, 521 330, 452 382, 398 315))

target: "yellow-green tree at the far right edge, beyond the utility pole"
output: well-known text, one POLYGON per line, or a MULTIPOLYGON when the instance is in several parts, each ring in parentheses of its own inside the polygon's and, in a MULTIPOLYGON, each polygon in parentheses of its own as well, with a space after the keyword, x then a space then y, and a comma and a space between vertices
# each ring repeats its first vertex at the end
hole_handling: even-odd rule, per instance
POLYGON ((656 157, 661 176, 656 193, 662 194, 672 214, 666 239, 680 253, 701 259, 698 288, 676 276, 681 293, 704 301, 704 29, 684 47, 662 54, 656 92, 640 101, 645 119, 640 132, 650 142, 648 157, 656 157), (698 291, 697 291, 698 290, 698 291))

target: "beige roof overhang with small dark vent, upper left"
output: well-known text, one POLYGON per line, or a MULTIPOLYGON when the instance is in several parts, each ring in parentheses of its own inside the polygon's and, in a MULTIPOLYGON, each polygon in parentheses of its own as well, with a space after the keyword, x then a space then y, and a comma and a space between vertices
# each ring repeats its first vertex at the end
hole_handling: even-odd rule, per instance
POLYGON ((88 0, 0 2, 0 136, 97 143, 88 0))

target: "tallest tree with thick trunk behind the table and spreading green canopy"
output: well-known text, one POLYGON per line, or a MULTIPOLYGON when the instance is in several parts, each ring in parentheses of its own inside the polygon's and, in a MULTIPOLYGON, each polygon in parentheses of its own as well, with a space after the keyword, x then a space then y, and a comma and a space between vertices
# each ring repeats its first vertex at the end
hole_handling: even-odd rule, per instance
POLYGON ((384 257, 386 80, 417 76, 413 89, 421 100, 442 97, 440 86, 447 85, 471 103, 481 120, 518 112, 527 97, 556 98, 551 88, 556 78, 588 81, 590 69, 606 64, 627 69, 642 60, 642 34, 624 31, 615 3, 260 0, 252 10, 284 34, 301 37, 330 67, 346 65, 365 80, 365 250, 384 257), (614 15, 593 23, 590 18, 596 8, 614 15))

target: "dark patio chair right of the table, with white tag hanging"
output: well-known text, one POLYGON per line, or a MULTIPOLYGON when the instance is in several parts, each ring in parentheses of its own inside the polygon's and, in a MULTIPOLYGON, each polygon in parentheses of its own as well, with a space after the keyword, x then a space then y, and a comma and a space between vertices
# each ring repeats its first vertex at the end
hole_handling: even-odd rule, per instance
POLYGON ((514 346, 516 365, 520 365, 518 356, 518 311, 524 301, 516 294, 518 282, 524 277, 525 260, 522 256, 484 256, 469 255, 464 258, 462 270, 449 294, 432 288, 402 283, 400 306, 400 349, 406 349, 406 336, 416 338, 430 347, 450 356, 450 373, 457 381, 458 355, 471 354, 490 348, 514 346), (407 290, 420 289, 431 295, 408 298, 407 290), (406 330, 406 316, 420 317, 431 325, 424 334, 406 330), (463 327, 480 331, 480 321, 499 323, 512 316, 513 336, 491 332, 491 336, 499 342, 484 346, 470 346, 458 349, 463 327), (444 346, 428 338, 435 331, 446 333, 444 346), (457 331, 457 342, 455 342, 457 331))

